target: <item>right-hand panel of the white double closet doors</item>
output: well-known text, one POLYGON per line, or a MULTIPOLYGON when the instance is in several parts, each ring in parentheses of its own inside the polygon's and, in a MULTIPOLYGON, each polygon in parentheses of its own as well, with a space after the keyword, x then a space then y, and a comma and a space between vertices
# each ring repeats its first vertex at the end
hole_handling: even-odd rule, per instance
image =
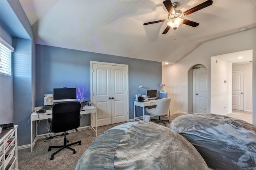
POLYGON ((111 66, 111 123, 127 121, 127 73, 125 66, 111 66))

